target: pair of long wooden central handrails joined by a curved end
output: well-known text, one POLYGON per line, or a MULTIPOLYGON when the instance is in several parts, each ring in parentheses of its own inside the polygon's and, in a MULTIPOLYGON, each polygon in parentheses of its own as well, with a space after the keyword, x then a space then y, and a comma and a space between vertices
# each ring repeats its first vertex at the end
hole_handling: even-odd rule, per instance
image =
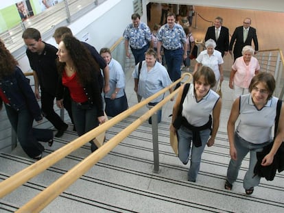
MULTIPOLYGON (((180 79, 176 82, 164 88, 163 90, 157 92, 156 94, 152 95, 151 97, 141 101, 137 105, 132 106, 128 110, 122 112, 121 114, 111 118, 106 123, 99 125, 95 129, 88 131, 86 134, 76 138, 75 140, 69 142, 64 147, 57 149, 53 153, 50 153, 45 158, 42 158, 38 162, 35 162, 31 166, 24 168, 19 173, 12 175, 8 179, 0 182, 0 198, 5 197, 10 192, 25 184, 29 179, 32 179, 36 175, 42 173, 50 166, 56 164, 59 160, 62 160, 67 155, 79 149, 83 145, 85 145, 90 140, 93 140, 95 137, 99 136, 102 132, 110 129, 113 125, 116 125, 124 118, 130 116, 137 110, 145 107, 147 103, 150 103, 152 100, 156 99, 156 97, 164 94, 165 92, 169 91, 170 88, 174 88, 176 84, 182 82, 186 77, 188 79, 185 82, 190 82, 192 79, 192 75, 190 73, 184 73, 180 79)), ((96 164, 99 160, 104 158, 104 156, 112 151, 124 138, 126 138, 129 134, 132 133, 137 127, 143 124, 147 118, 150 118, 152 114, 158 111, 165 103, 167 103, 174 95, 178 93, 179 89, 174 90, 170 95, 167 95, 163 101, 155 105, 152 109, 148 110, 145 114, 143 114, 140 118, 134 121, 131 125, 123 129, 119 134, 111 138, 108 142, 106 142, 102 147, 99 147, 95 152, 91 153, 87 158, 85 158, 82 162, 74 166, 70 171, 68 171, 65 175, 62 175, 58 180, 47 187, 43 192, 38 194, 34 199, 23 205, 17 212, 40 212, 43 210, 45 206, 47 206, 51 201, 53 201, 58 195, 60 195, 66 188, 68 188, 73 182, 79 179, 89 168, 91 168, 94 164, 96 164)))

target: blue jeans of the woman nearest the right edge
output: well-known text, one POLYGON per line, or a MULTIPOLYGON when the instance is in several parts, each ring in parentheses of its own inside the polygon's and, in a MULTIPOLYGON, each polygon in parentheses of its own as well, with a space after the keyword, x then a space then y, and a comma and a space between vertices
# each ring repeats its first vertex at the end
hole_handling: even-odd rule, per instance
POLYGON ((253 170, 255 164, 257 164, 257 152, 262 151, 263 147, 268 145, 270 142, 264 142, 262 144, 253 144, 241 138, 237 133, 235 133, 235 148, 237 150, 237 160, 230 160, 227 171, 227 179, 230 184, 233 184, 237 175, 239 174, 239 168, 241 167, 241 162, 246 157, 246 154, 250 152, 250 164, 248 166, 248 171, 244 177, 244 188, 249 189, 259 185, 261 177, 255 175, 253 170))

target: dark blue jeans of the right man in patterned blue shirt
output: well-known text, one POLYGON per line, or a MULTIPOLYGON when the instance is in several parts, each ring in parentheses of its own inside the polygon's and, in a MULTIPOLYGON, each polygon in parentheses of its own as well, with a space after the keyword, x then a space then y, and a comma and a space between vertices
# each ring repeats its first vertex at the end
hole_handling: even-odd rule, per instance
POLYGON ((164 48, 165 53, 165 62, 167 64, 167 73, 169 73, 169 77, 171 81, 176 82, 177 79, 180 79, 180 64, 182 64, 182 53, 183 50, 167 50, 164 48))

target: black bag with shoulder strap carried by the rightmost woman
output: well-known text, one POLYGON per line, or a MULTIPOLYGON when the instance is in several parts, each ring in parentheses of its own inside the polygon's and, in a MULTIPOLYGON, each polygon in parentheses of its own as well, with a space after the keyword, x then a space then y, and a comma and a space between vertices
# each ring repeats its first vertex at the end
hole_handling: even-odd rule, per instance
MULTIPOLYGON (((279 116, 281 111, 281 105, 282 101, 279 99, 277 102, 276 107, 276 118, 275 118, 275 127, 274 127, 274 138, 276 138, 276 133, 278 129, 278 123, 279 123, 279 116)), ((259 175, 259 177, 265 177, 266 180, 272 181, 276 175, 276 171, 278 169, 278 172, 284 170, 284 144, 282 142, 281 146, 279 147, 278 151, 274 155, 274 159, 272 164, 269 166, 262 166, 261 162, 265 155, 270 153, 270 150, 273 147, 273 142, 271 142, 269 145, 263 147, 263 151, 257 152, 257 164, 255 164, 254 173, 255 175, 259 175)))

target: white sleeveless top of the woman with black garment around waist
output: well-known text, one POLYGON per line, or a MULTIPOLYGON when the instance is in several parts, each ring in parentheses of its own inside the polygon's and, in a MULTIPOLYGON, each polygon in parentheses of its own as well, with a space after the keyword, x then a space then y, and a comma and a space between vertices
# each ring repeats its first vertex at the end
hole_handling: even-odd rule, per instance
POLYGON ((200 101, 196 101, 194 85, 190 84, 189 92, 182 104, 182 116, 187 118, 187 122, 195 127, 201 127, 209 121, 209 115, 215 108, 220 96, 213 90, 209 90, 206 96, 200 101))

